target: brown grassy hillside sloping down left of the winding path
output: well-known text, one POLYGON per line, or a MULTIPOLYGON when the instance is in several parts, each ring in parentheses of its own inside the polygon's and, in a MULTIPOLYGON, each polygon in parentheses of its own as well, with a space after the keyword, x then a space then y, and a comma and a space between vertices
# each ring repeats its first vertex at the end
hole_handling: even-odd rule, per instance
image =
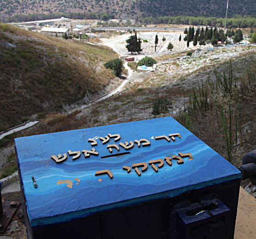
POLYGON ((0 24, 0 131, 96 97, 114 78, 103 63, 116 57, 107 47, 0 24))

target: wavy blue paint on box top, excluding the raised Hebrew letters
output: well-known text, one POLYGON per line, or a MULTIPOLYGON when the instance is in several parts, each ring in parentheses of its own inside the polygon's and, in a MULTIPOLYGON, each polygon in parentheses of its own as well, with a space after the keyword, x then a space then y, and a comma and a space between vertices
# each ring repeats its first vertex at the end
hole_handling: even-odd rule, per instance
POLYGON ((190 189, 241 178, 240 171, 171 117, 22 137, 15 139, 15 144, 31 226, 64 222, 95 211, 159 198, 172 198, 190 189), (110 155, 108 143, 102 145, 98 138, 97 146, 91 147, 88 139, 105 137, 109 133, 121 136, 118 142, 110 139, 109 144, 119 145, 119 142, 145 138, 151 145, 138 148, 135 143, 130 150, 119 146, 119 152, 113 148, 112 154, 131 154, 101 159, 110 155), (155 136, 168 136, 170 133, 180 133, 182 138, 175 137, 174 142, 155 140, 155 136), (154 139, 151 138, 153 136, 154 139), (95 148, 99 155, 85 159, 82 150, 91 148, 95 148), (73 161, 73 155, 67 154, 68 150, 81 151, 80 158, 73 161), (140 177, 134 169, 129 174, 122 170, 124 165, 148 164, 149 160, 178 156, 179 152, 191 153, 193 160, 184 158, 184 164, 178 165, 173 159, 172 166, 165 162, 158 173, 148 165, 148 170, 140 177), (68 158, 63 163, 57 164, 51 159, 52 154, 64 153, 68 158), (113 173, 113 179, 108 175, 95 176, 96 171, 106 169, 113 173), (38 188, 34 188, 31 176, 35 177, 38 188), (66 187, 65 183, 56 184, 59 180, 71 180, 72 188, 66 187))

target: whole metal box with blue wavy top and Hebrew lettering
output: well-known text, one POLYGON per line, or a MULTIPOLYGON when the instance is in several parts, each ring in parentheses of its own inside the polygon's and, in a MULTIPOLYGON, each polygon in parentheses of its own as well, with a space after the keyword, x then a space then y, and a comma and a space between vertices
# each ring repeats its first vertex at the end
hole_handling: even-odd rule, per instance
POLYGON ((31 239, 233 238, 240 171, 171 117, 15 145, 31 239))

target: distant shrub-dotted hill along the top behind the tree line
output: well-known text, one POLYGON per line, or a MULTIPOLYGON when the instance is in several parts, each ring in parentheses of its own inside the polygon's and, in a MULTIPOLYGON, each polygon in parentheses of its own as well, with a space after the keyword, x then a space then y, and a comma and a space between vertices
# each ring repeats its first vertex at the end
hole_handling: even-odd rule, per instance
MULTIPOLYGON (((225 17, 226 0, 0 0, 0 20, 22 14, 108 13, 112 17, 157 17, 203 14, 225 17)), ((255 0, 230 0, 228 15, 253 15, 255 0)))

